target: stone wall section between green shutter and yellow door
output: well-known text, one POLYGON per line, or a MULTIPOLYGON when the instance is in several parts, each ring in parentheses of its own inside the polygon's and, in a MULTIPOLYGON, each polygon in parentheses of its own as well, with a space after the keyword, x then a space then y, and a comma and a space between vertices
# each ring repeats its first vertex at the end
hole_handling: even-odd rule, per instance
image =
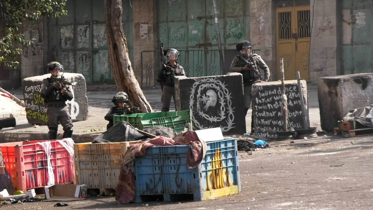
POLYGON ((271 0, 250 1, 250 42, 271 72, 269 81, 276 79, 275 9, 271 0))

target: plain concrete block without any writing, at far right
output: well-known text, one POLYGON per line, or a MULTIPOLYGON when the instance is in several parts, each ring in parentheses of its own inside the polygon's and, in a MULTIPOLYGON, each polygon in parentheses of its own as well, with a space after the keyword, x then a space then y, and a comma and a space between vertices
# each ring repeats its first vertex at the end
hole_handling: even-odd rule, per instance
POLYGON ((321 128, 332 132, 351 109, 373 104, 373 74, 320 77, 317 93, 321 128))

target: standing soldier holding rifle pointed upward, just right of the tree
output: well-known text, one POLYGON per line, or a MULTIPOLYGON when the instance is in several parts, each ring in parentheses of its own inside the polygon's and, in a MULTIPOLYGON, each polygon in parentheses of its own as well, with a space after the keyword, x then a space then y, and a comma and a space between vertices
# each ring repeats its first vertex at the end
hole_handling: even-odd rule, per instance
POLYGON ((161 83, 162 87, 162 112, 170 110, 171 97, 175 102, 175 84, 173 78, 175 76, 185 75, 184 68, 176 62, 180 57, 180 53, 176 49, 168 49, 166 57, 169 62, 162 67, 157 76, 157 82, 161 83))

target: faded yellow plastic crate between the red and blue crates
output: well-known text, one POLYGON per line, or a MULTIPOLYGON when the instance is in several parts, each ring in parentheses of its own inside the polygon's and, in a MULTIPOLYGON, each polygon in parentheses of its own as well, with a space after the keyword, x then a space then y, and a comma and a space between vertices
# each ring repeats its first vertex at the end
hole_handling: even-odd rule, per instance
POLYGON ((76 183, 88 188, 116 188, 128 146, 141 142, 74 144, 76 183))

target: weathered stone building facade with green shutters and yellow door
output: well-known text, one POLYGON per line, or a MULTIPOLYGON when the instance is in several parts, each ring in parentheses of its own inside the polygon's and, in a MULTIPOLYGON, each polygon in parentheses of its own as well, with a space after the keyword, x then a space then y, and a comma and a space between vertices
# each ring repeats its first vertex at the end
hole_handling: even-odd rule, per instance
MULTIPOLYGON (((313 83, 332 75, 373 72, 372 0, 216 0, 224 67, 214 25, 213 0, 123 0, 123 30, 132 67, 142 86, 154 86, 159 39, 181 52, 189 77, 220 75, 229 69, 235 44, 249 40, 279 79, 313 83)), ((81 73, 87 84, 113 84, 102 0, 71 0, 68 16, 25 24, 34 45, 23 49, 19 70, 0 65, 0 85, 45 72, 49 61, 81 73), (5 74, 18 71, 19 74, 5 74), (19 78, 15 78, 19 77, 19 78), (7 80, 7 82, 4 82, 7 80)), ((0 30, 1 35, 1 30, 0 30)))

